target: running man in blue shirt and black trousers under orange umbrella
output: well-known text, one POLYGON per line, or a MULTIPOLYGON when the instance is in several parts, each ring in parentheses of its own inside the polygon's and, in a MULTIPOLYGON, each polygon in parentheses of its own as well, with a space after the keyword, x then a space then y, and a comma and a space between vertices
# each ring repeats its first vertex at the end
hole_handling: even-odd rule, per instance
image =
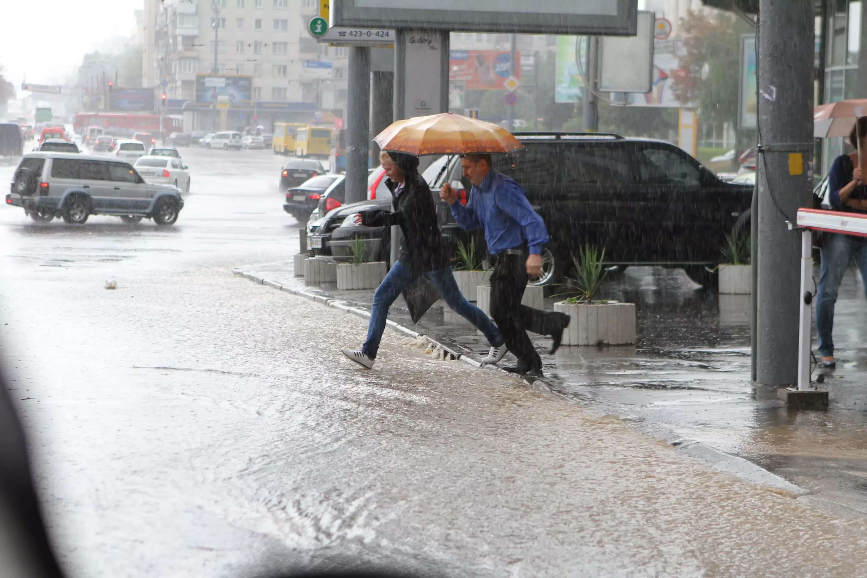
POLYGON ((544 222, 533 211, 524 189, 514 180, 492 169, 490 154, 466 154, 461 159, 464 176, 473 183, 466 205, 457 203, 451 185, 443 185, 440 198, 452 209, 461 229, 485 230, 488 252, 494 263, 491 275, 491 316, 505 345, 518 358, 515 373, 541 373, 542 360, 530 337, 551 335, 551 354, 560 347, 569 315, 545 313, 521 304, 529 277, 542 272, 542 250, 548 243, 544 222), (529 255, 528 255, 529 253, 529 255))

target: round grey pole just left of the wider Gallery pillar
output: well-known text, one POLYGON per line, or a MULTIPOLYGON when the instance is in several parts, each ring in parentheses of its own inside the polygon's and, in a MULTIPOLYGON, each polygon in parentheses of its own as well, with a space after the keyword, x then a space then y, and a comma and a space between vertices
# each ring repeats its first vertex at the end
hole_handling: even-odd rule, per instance
POLYGON ((346 204, 366 200, 370 140, 370 49, 349 47, 346 111, 346 204))

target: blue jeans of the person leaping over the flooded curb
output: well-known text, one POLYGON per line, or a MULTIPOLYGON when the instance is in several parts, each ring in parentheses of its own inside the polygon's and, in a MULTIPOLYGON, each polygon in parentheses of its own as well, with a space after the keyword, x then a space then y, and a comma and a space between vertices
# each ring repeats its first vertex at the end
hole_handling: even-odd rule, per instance
MULTIPOLYGON (((379 343, 382 339, 382 332, 385 330, 385 322, 388 317, 388 308, 394 303, 398 295, 401 295, 403 289, 409 283, 413 283, 416 276, 419 274, 409 270, 408 267, 397 261, 388 270, 388 275, 382 280, 380 286, 374 293, 374 305, 370 310, 370 325, 368 326, 368 340, 364 341, 362 353, 370 359, 376 358, 376 352, 379 350, 379 343)), ((455 313, 473 323, 473 326, 487 338, 487 341, 492 347, 503 345, 503 337, 499 334, 499 329, 493 324, 485 312, 466 301, 464 295, 460 294, 458 283, 452 275, 452 268, 440 269, 437 271, 427 271, 422 273, 427 277, 427 280, 433 283, 433 286, 440 292, 440 296, 446 301, 447 305, 454 310, 455 313)))

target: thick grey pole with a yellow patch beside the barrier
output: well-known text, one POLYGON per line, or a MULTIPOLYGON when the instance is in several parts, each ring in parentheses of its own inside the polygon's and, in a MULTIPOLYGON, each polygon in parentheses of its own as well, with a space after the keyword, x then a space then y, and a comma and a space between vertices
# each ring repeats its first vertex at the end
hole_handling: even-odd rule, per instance
POLYGON ((759 2, 758 313, 756 380, 798 378, 800 238, 812 189, 812 0, 759 2))

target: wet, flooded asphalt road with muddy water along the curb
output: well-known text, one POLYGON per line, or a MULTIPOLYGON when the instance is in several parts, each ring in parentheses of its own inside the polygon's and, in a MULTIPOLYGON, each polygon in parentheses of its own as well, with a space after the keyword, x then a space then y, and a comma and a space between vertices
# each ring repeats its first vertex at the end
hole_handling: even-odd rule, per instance
MULTIPOLYGON (((74 576, 858 575, 867 524, 231 276, 297 224, 267 152, 187 149, 178 224, 0 211, 4 371, 74 576), (115 280, 118 289, 104 289, 115 280), (774 536, 773 539, 769 539, 774 536)), ((10 166, 0 166, 8 182, 10 166)))

